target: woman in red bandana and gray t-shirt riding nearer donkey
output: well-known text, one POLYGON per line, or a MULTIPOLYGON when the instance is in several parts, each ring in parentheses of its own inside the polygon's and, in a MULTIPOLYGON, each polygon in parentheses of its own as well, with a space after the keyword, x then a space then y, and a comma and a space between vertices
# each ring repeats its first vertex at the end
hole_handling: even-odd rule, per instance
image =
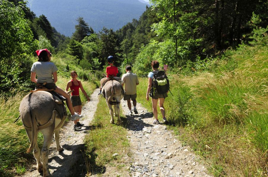
POLYGON ((76 112, 74 112, 70 95, 67 94, 65 91, 63 91, 63 89, 61 89, 60 87, 56 86, 55 84, 58 80, 57 77, 58 68, 54 63, 50 62, 52 56, 51 53, 47 49, 41 49, 36 50, 36 54, 38 56, 38 61, 34 62, 31 68, 31 81, 36 83, 36 86, 43 85, 44 83, 46 83, 44 87, 46 87, 47 89, 54 89, 55 92, 64 96, 66 98, 67 107, 71 112, 72 120, 82 118, 82 115, 79 115, 76 112), (37 79, 36 74, 38 77, 37 79))

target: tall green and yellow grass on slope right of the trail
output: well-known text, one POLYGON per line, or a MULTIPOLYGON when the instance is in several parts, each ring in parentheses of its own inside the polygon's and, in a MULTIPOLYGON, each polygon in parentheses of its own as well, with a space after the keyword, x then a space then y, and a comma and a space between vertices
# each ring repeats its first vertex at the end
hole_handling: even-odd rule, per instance
MULTIPOLYGON (((168 94, 164 104, 170 129, 214 176, 263 176, 268 168, 268 46, 228 50, 212 68, 168 75, 174 95, 168 94)), ((139 80, 137 101, 152 111, 145 100, 148 79, 139 80)))

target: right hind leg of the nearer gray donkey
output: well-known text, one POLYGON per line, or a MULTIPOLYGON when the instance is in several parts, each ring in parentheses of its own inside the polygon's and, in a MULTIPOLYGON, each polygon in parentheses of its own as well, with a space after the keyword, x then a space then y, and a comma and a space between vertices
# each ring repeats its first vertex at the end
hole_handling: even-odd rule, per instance
POLYGON ((41 150, 41 155, 42 155, 42 160, 43 160, 43 177, 51 176, 49 172, 49 168, 48 168, 48 153, 49 153, 49 147, 51 145, 52 138, 53 138, 53 131, 54 131, 54 126, 50 126, 41 130, 44 136, 44 144, 41 150))

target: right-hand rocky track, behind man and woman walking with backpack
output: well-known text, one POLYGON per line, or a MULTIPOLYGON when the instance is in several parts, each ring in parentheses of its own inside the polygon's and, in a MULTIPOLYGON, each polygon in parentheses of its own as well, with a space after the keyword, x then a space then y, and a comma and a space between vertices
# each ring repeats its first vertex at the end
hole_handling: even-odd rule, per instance
MULTIPOLYGON (((128 112, 126 101, 122 101, 122 109, 125 114, 128 112)), ((190 147, 182 146, 165 125, 152 124, 153 114, 141 104, 137 104, 137 109, 138 114, 127 115, 128 138, 133 154, 127 167, 130 176, 210 176, 190 147)))

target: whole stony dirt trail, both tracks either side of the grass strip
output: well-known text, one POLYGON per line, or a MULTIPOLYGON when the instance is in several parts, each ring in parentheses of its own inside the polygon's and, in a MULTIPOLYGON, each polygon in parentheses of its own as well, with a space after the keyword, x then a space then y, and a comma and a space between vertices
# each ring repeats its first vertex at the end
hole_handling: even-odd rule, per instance
MULTIPOLYGON (((82 114, 84 118, 80 120, 86 126, 81 131, 74 132, 73 122, 68 122, 60 131, 60 145, 64 151, 58 153, 55 149, 55 141, 50 146, 49 168, 54 177, 67 177, 72 164, 76 164, 78 158, 82 158, 80 149, 83 147, 83 137, 90 130, 90 122, 93 119, 97 108, 99 89, 91 95, 91 101, 83 106, 82 114)), ((93 174, 92 176, 152 176, 152 177, 210 177, 206 168, 200 163, 188 146, 183 146, 172 131, 167 130, 163 124, 152 124, 153 114, 148 112, 141 104, 137 104, 138 114, 127 115, 127 102, 121 102, 123 113, 127 117, 128 139, 130 142, 130 152, 132 157, 123 155, 123 168, 106 165, 103 174, 93 174)), ((81 176, 82 174, 77 174, 81 176)), ((38 176, 37 170, 25 173, 27 176, 38 176)))

